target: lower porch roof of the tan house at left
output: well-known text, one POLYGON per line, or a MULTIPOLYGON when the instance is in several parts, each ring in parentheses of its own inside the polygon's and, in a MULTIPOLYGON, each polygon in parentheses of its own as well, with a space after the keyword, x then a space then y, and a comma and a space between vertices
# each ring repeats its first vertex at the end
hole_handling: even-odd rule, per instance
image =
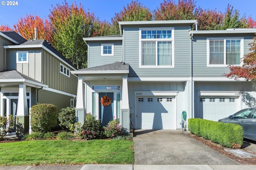
POLYGON ((48 87, 47 85, 42 84, 41 82, 26 76, 17 70, 6 70, 0 72, 0 82, 27 82, 36 86, 48 87))

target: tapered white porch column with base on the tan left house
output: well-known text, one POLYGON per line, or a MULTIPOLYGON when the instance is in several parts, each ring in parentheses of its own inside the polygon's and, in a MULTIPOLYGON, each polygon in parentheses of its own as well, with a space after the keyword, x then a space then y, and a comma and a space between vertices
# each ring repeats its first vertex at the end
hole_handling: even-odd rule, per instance
POLYGON ((28 102, 27 102, 27 93, 26 85, 19 85, 19 96, 18 96, 18 107, 16 114, 16 128, 17 135, 24 135, 29 131, 29 115, 28 115, 28 102), (20 127, 20 128, 19 128, 20 127))

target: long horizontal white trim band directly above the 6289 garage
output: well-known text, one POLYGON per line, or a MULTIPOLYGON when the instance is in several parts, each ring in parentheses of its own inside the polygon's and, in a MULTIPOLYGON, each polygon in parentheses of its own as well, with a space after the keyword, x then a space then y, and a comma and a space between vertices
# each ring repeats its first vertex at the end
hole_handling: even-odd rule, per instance
POLYGON ((154 82, 154 81, 164 81, 164 82, 186 82, 189 81, 189 77, 128 77, 128 82, 140 82, 140 81, 149 81, 149 82, 154 82))

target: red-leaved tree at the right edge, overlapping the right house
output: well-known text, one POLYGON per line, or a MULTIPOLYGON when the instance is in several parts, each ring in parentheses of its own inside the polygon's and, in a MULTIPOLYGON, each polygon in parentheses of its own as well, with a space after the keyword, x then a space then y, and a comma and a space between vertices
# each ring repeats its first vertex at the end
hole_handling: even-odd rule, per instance
POLYGON ((229 66, 230 73, 225 74, 228 78, 245 78, 247 81, 256 82, 256 37, 250 45, 250 53, 244 55, 242 66, 229 66))

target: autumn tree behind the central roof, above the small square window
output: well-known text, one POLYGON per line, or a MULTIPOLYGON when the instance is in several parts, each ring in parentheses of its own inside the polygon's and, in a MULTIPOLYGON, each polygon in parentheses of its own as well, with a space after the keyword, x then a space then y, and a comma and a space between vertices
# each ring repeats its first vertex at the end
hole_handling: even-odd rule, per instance
POLYGON ((119 21, 150 21, 152 20, 152 14, 150 10, 138 3, 138 1, 132 1, 130 4, 127 4, 127 7, 124 7, 120 13, 115 13, 115 16, 111 18, 112 28, 111 34, 118 35, 119 31, 119 21))

